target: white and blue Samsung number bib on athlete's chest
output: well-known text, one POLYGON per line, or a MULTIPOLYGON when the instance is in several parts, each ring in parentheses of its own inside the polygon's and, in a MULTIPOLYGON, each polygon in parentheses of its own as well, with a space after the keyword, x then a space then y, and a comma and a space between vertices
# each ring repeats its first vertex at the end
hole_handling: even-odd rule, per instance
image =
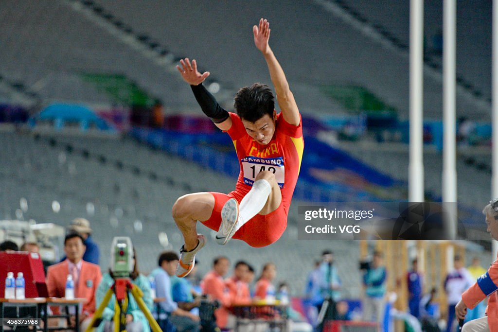
POLYGON ((242 171, 244 173, 244 183, 252 186, 254 179, 262 171, 270 171, 275 174, 278 187, 283 188, 285 183, 285 166, 283 157, 259 158, 246 157, 241 160, 242 171))

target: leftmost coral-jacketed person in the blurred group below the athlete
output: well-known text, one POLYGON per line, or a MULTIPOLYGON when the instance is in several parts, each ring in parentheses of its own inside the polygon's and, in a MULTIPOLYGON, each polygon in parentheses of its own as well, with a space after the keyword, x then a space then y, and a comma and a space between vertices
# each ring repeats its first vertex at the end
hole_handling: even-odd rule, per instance
POLYGON ((204 276, 201 282, 202 293, 220 302, 221 307, 215 311, 216 324, 220 329, 228 327, 228 308, 232 304, 229 288, 223 279, 229 268, 230 261, 227 257, 217 257, 213 261, 213 269, 204 276))

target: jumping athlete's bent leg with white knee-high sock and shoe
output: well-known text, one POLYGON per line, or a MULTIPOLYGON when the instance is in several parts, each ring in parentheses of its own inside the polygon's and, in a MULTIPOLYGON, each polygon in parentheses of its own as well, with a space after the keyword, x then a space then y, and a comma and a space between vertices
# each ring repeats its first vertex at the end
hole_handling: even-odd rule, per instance
POLYGON ((260 172, 249 193, 240 206, 235 199, 228 200, 222 209, 222 223, 216 234, 219 244, 226 244, 247 221, 257 214, 267 215, 275 211, 282 201, 282 193, 275 175, 269 171, 260 172))

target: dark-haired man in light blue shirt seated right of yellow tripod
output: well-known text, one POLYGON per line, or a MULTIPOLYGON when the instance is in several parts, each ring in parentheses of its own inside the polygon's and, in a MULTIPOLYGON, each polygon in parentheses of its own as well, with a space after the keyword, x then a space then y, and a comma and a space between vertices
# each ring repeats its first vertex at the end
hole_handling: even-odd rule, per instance
POLYGON ((164 251, 159 255, 158 267, 150 273, 155 280, 156 296, 165 299, 159 303, 159 325, 162 327, 171 322, 178 332, 199 331, 199 317, 179 308, 172 299, 171 277, 175 275, 178 259, 176 252, 164 251))

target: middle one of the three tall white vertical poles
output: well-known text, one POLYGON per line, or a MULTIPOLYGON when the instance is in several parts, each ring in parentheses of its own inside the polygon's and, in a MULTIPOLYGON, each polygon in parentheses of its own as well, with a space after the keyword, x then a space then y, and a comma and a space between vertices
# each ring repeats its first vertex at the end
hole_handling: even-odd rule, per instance
POLYGON ((443 203, 449 213, 445 228, 450 239, 457 235, 456 167, 456 0, 443 2, 443 203), (454 202, 454 203, 452 203, 454 202))

